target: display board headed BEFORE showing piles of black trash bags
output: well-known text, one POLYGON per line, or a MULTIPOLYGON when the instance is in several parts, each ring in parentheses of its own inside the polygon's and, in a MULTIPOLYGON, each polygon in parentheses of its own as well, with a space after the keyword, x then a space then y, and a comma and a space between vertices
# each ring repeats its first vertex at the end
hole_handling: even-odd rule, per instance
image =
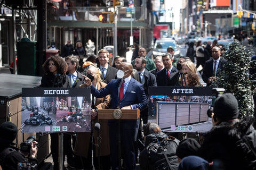
POLYGON ((90 88, 22 88, 21 132, 90 132, 90 88))

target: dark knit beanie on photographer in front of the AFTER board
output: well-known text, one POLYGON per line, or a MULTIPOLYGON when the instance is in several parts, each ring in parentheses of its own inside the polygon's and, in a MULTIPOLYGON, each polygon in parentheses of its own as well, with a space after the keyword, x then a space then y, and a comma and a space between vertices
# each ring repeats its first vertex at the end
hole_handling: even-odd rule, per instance
POLYGON ((223 94, 219 96, 214 103, 213 113, 222 121, 233 120, 238 117, 238 102, 234 95, 223 94))

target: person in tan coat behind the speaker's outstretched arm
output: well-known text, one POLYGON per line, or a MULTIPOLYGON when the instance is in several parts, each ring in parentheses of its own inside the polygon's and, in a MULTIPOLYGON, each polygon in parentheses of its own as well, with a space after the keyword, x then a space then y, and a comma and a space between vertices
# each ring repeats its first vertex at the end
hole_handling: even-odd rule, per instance
MULTIPOLYGON (((87 77, 89 77, 92 81, 92 84, 97 89, 104 88, 107 84, 104 83, 100 78, 100 71, 95 66, 90 66, 87 72, 87 77)), ((85 84, 82 84, 80 87, 86 87, 85 84)), ((77 142, 75 146, 75 154, 79 157, 82 157, 83 164, 81 164, 81 159, 77 158, 76 168, 92 169, 92 149, 93 149, 93 164, 96 169, 98 169, 98 132, 94 130, 95 122, 100 122, 100 166, 101 169, 110 169, 110 145, 109 145, 109 126, 108 120, 99 120, 97 109, 107 109, 109 108, 110 96, 106 96, 103 98, 95 98, 92 97, 91 104, 91 133, 77 133, 77 142), (93 135, 92 135, 93 134, 93 135), (93 142, 92 142, 93 138, 93 142), (83 167, 84 166, 84 167, 83 167)))

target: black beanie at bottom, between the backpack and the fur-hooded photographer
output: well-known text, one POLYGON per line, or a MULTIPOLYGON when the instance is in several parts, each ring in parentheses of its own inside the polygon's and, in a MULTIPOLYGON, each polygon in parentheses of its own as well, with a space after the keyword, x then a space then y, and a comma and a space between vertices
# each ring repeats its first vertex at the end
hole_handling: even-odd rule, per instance
POLYGON ((181 159, 186 156, 197 155, 197 151, 199 148, 200 145, 195 139, 183 139, 180 141, 179 146, 176 149, 176 155, 181 159))

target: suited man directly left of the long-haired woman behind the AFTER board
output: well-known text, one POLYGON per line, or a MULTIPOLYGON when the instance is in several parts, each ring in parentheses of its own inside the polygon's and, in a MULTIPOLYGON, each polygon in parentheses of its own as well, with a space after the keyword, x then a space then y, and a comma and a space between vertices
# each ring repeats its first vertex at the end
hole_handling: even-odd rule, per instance
POLYGON ((169 79, 170 74, 177 72, 178 70, 172 65, 173 59, 172 54, 165 53, 162 56, 164 63, 164 69, 159 71, 156 76, 157 86, 167 86, 167 79, 169 79))

